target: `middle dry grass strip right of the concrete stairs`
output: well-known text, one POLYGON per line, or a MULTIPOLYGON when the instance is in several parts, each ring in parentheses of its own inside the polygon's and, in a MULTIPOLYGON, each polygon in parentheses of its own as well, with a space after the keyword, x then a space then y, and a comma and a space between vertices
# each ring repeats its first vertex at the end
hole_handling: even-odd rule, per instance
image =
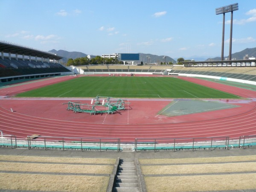
POLYGON ((141 170, 144 175, 249 172, 249 171, 256 171, 256 162, 191 164, 191 165, 172 165, 172 166, 141 166, 141 170))

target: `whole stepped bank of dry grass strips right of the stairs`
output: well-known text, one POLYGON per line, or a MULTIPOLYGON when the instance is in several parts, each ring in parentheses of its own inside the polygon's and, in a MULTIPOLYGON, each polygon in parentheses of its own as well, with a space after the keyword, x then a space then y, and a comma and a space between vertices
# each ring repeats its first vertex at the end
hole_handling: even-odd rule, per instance
POLYGON ((256 155, 139 161, 148 192, 256 189, 256 155))

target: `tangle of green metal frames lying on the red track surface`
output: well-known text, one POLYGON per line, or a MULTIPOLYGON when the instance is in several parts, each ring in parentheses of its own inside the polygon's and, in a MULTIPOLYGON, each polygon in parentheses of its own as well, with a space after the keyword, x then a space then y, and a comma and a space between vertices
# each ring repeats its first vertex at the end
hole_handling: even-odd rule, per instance
POLYGON ((91 104, 79 104, 79 102, 63 104, 68 104, 68 111, 90 113, 91 115, 97 113, 113 114, 115 111, 125 110, 124 100, 105 96, 96 96, 92 99, 91 104))

